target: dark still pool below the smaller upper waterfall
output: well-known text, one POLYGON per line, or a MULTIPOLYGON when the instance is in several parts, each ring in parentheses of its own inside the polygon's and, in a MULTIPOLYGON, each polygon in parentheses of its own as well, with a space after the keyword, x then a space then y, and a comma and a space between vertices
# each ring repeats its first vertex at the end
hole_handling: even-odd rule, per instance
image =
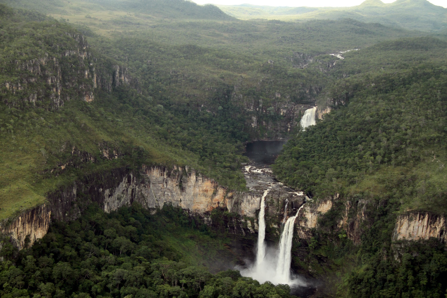
POLYGON ((257 164, 273 164, 279 152, 283 149, 284 141, 255 141, 248 143, 244 153, 257 164))

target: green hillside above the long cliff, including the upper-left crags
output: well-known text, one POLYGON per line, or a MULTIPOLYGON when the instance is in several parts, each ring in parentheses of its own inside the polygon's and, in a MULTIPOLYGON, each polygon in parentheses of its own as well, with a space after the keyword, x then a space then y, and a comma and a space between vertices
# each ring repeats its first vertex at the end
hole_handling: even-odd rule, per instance
POLYGON ((119 21, 95 5, 54 4, 74 13, 59 21, 2 5, 0 218, 86 173, 142 163, 244 189, 242 143, 268 136, 281 105, 314 102, 336 60, 327 53, 420 34, 352 20, 163 22, 150 10, 119 21))

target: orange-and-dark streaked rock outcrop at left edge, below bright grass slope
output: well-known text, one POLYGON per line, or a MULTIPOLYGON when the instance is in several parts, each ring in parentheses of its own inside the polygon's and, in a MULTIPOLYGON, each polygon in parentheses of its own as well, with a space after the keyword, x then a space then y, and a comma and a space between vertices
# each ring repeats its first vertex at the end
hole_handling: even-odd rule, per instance
POLYGON ((50 227, 51 210, 45 204, 20 214, 13 222, 1 224, 1 231, 10 235, 20 250, 42 238, 50 227))

